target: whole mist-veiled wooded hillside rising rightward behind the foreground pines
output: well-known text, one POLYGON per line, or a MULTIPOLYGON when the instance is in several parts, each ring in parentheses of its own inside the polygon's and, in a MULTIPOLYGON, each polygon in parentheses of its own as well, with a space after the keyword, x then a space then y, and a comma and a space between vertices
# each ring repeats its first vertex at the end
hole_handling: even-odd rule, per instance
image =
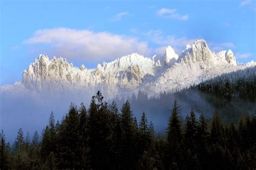
MULTIPOLYGON (((118 106, 125 102, 119 98, 114 100, 118 106)), ((174 100, 182 107, 183 117, 193 108, 196 114, 203 113, 210 119, 217 109, 224 122, 238 123, 244 112, 256 113, 256 67, 223 74, 176 93, 161 93, 149 98, 147 93, 139 91, 138 96, 133 94, 129 99, 134 113, 147 112, 157 131, 165 130, 163 122, 174 100)))

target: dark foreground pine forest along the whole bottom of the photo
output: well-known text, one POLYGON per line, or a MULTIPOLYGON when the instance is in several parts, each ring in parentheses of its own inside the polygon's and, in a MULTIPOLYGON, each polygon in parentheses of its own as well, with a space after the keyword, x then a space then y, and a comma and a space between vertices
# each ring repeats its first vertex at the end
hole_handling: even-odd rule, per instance
POLYGON ((256 117, 244 114, 238 125, 211 120, 193 110, 181 117, 175 101, 165 135, 156 135, 146 114, 137 122, 129 101, 120 112, 100 92, 89 108, 71 104, 55 121, 50 114, 42 138, 18 131, 14 146, 0 140, 0 169, 255 169, 256 117))

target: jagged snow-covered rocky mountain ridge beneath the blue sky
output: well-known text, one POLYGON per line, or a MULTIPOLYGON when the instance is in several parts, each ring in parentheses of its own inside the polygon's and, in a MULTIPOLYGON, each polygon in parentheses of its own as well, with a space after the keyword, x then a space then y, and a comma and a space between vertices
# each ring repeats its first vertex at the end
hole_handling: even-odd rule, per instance
POLYGON ((113 62, 98 64, 96 69, 80 68, 64 58, 40 55, 24 70, 22 81, 1 87, 0 92, 30 91, 37 96, 68 92, 92 96, 97 90, 104 97, 127 97, 139 90, 149 96, 175 92, 223 73, 245 69, 255 62, 237 64, 233 52, 212 52, 205 40, 187 45, 180 54, 168 46, 164 56, 147 58, 138 53, 120 57, 113 62))

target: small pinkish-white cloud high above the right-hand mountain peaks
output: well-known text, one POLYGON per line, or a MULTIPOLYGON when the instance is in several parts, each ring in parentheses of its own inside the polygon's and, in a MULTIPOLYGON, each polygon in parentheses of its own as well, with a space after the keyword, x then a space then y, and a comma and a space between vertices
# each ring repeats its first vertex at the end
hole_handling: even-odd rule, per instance
POLYGON ((187 21, 188 19, 188 15, 180 15, 177 13, 177 9, 162 8, 157 11, 157 15, 160 17, 180 19, 182 21, 187 21))

